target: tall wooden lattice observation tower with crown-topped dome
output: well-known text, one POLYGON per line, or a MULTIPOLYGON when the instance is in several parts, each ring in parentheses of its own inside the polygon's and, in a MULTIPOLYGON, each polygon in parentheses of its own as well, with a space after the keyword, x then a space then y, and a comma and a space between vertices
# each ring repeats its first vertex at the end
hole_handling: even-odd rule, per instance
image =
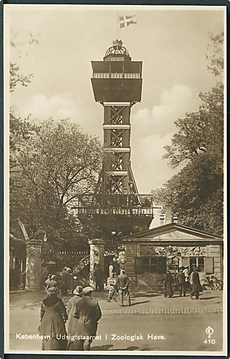
MULTIPOLYGON (((92 88, 104 108, 104 146, 112 154, 94 194, 79 197, 78 214, 97 216, 104 240, 148 229, 153 219, 150 194, 139 194, 130 164, 130 114, 141 101, 142 61, 132 61, 121 40, 113 41, 103 61, 92 61, 92 88)), ((106 159, 105 159, 106 161, 106 159)))

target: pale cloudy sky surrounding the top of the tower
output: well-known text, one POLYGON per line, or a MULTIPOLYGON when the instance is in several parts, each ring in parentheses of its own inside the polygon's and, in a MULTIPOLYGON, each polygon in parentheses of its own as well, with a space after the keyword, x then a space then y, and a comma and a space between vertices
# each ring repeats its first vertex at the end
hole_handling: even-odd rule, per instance
POLYGON ((215 86, 207 44, 209 32, 223 31, 224 9, 4 5, 5 56, 22 74, 33 74, 27 87, 10 93, 10 106, 39 121, 70 118, 102 141, 103 106, 94 101, 91 61, 103 60, 118 37, 132 60, 143 61, 142 101, 131 109, 131 166, 139 192, 149 193, 180 170, 162 159, 177 131, 174 121, 198 111, 199 93, 215 86), (137 23, 118 30, 117 14, 136 15, 137 23))

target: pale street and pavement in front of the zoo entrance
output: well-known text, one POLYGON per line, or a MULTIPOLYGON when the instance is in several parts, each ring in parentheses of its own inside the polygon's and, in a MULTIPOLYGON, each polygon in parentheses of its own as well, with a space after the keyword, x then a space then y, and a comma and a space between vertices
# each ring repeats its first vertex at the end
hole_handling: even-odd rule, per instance
MULTIPOLYGON (((162 292, 131 293, 131 307, 119 307, 107 300, 107 292, 94 292, 102 318, 92 351, 221 351, 223 346, 223 292, 205 291, 201 300, 190 295, 164 298, 162 292), (147 314, 147 315, 143 315, 147 314), (214 329, 215 344, 205 343, 206 328, 214 329), (152 340, 151 335, 157 336, 152 340), (113 336, 118 339, 113 339, 113 336), (135 337, 136 335, 136 337, 135 337), (142 335, 143 340, 138 336, 142 335), (150 335, 150 339, 148 336, 150 335), (128 337, 127 337, 128 336, 128 337), (129 339, 133 336, 133 340, 129 339), (128 339, 127 339, 128 338, 128 339), (163 338, 163 339, 160 339, 163 338)), ((41 350, 38 340, 18 340, 17 333, 36 334, 40 303, 45 292, 14 292, 9 296, 9 348, 11 350, 41 350)), ((66 305, 70 296, 60 296, 66 305)))

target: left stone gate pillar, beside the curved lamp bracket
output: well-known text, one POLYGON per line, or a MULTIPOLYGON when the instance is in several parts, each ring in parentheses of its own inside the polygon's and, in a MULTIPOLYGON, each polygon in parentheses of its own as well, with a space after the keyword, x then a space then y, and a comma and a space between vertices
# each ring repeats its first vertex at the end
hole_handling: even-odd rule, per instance
POLYGON ((26 240, 25 290, 40 290, 41 278, 41 245, 38 239, 26 240))

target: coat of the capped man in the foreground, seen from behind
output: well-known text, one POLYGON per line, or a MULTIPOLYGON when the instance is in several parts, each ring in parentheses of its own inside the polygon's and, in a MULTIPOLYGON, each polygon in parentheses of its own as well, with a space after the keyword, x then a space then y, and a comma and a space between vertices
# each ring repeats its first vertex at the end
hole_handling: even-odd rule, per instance
POLYGON ((76 303, 74 317, 78 319, 76 335, 95 336, 97 321, 101 318, 101 309, 98 302, 86 296, 76 303))

